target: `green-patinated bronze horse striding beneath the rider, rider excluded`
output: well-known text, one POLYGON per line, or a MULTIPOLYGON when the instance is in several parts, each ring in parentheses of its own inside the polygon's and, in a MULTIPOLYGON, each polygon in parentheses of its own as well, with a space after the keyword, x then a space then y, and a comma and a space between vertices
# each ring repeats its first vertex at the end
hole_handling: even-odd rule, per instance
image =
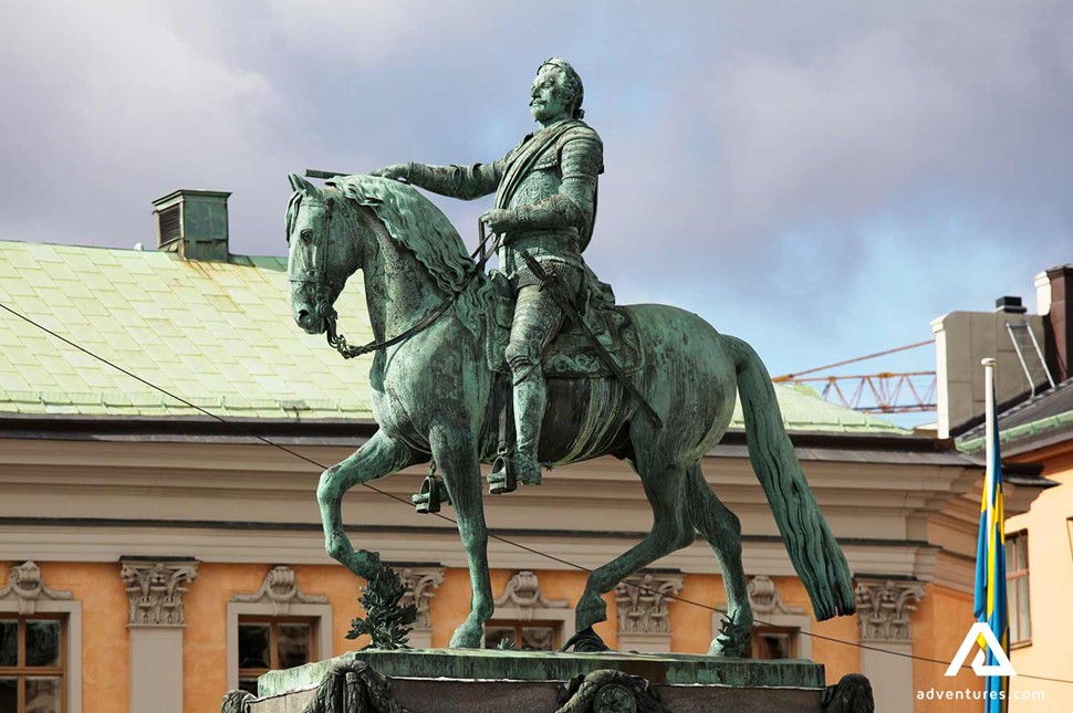
MULTIPOLYGON (((420 326, 376 350, 369 384, 379 429, 321 476, 316 497, 325 547, 355 575, 375 574, 377 553, 355 549, 343 531, 343 495, 434 459, 454 502, 473 591, 469 617, 451 646, 478 647, 493 609, 480 472, 481 461, 489 460, 482 433, 489 431, 497 379, 485 354, 489 327, 483 315, 494 298, 490 281, 447 218, 409 186, 372 176, 337 178, 324 189, 294 174, 290 181, 295 192, 287 235, 291 310, 298 324, 310 334, 327 332, 334 338, 332 304, 346 280, 362 270, 377 342, 420 326)), ((736 392, 744 411, 750 461, 816 619, 853 614, 845 557, 805 482, 760 358, 741 339, 720 335, 684 310, 624 308, 643 333, 646 349, 646 365, 633 378, 661 428, 614 378, 549 379, 541 461, 576 462, 605 454, 625 459, 640 476, 653 510, 648 535, 590 575, 576 607, 579 632, 592 641, 592 625, 606 619, 602 595, 689 546, 700 533, 722 567, 728 602, 727 621, 709 652, 747 654, 753 617, 741 565, 741 526, 700 472, 701 459, 730 423, 736 392), (582 439, 584 447, 579 445, 582 439)))

